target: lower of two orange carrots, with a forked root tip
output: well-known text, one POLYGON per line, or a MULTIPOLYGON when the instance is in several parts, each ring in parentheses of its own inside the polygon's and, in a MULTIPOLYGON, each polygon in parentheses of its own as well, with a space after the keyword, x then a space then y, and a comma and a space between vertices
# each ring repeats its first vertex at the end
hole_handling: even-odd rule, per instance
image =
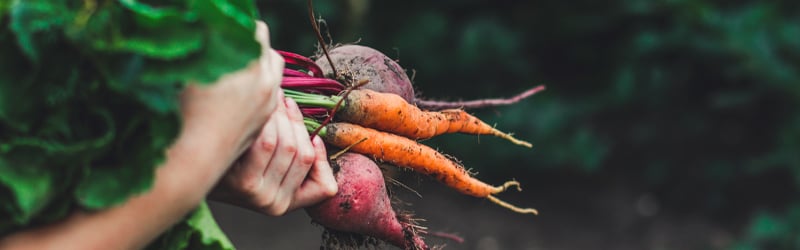
MULTIPOLYGON (((311 130, 320 125, 306 120, 306 126, 311 130)), ((325 125, 319 136, 330 145, 348 147, 352 152, 427 174, 463 194, 487 198, 518 213, 538 214, 535 209, 519 208, 493 196, 510 187, 519 190, 518 182, 508 181, 500 186, 486 184, 473 178, 464 167, 435 149, 409 138, 342 122, 325 125)))

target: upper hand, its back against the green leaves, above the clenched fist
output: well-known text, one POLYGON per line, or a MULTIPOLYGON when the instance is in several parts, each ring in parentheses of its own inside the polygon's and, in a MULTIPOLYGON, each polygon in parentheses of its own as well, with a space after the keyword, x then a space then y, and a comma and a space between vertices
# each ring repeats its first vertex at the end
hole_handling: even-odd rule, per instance
POLYGON ((221 172, 252 144, 280 101, 283 57, 270 47, 266 24, 256 25, 262 48, 257 61, 213 84, 190 84, 181 95, 181 138, 192 140, 184 144, 210 145, 226 156, 221 172))

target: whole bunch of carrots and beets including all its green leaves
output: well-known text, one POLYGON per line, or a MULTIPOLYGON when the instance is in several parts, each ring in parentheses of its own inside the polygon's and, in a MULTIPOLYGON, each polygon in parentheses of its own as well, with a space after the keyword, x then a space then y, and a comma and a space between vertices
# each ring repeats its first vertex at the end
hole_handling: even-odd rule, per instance
MULTIPOLYGON (((0 236, 58 221, 76 210, 105 209, 149 190, 155 167, 179 132, 181 89, 214 82, 257 58, 253 20, 258 10, 252 1, 155 2, 0 1, 0 236)), ((350 53, 346 48, 330 55, 350 53)), ((302 69, 287 69, 283 85, 286 96, 303 104, 312 134, 331 146, 369 156, 348 153, 333 161, 340 169, 342 191, 327 204, 347 201, 349 211, 363 211, 354 215, 369 212, 371 216, 359 218, 382 222, 335 227, 345 217, 325 216, 347 211, 326 209, 326 203, 308 210, 316 221, 341 231, 379 231, 384 234, 376 237, 396 245, 426 248, 410 216, 394 213, 388 198, 380 198, 386 191, 373 159, 418 169, 462 192, 493 200, 497 192, 517 185, 484 184, 416 140, 472 129, 525 142, 463 111, 425 113, 414 105, 437 110, 509 104, 538 90, 511 99, 442 103, 415 99, 405 72, 385 57, 370 67, 339 67, 336 61, 283 56, 287 64, 302 69), (362 80, 369 83, 357 88, 362 80), (375 115, 383 112, 410 113, 375 115), (407 119, 402 126, 401 117, 407 119), (440 123, 434 126, 434 120, 440 123), (391 124, 404 130, 380 127, 391 124), (411 129, 421 124, 428 129, 411 129), (365 173, 368 168, 371 175, 365 173), (364 181, 370 178, 380 181, 364 181), (364 190, 373 191, 370 199, 359 198, 364 190)), ((233 248, 205 204, 150 247, 233 248)))

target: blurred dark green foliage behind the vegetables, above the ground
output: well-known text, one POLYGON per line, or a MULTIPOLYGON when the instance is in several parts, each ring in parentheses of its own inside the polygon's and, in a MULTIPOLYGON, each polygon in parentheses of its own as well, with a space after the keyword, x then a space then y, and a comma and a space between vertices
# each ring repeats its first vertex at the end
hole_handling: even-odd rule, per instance
MULTIPOLYGON (((305 1, 259 5, 276 48, 313 54, 305 1)), ((489 137, 427 142, 490 183, 520 180, 530 197, 520 203, 591 219, 606 215, 587 216, 596 211, 584 204, 622 190, 645 221, 703 218, 729 234, 706 248, 800 249, 800 1, 318 0, 315 9, 334 43, 399 60, 420 97, 546 84, 519 104, 474 111, 533 150, 489 137)))

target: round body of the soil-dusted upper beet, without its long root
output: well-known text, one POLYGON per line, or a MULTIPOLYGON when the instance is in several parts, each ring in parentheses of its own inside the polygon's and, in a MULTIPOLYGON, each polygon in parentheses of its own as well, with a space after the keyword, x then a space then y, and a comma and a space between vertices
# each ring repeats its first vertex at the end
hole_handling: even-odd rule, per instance
MULTIPOLYGON (((397 62, 380 51, 361 45, 343 45, 328 51, 333 67, 345 81, 369 83, 362 88, 383 93, 393 93, 414 103, 414 87, 406 71, 397 62)), ((336 78, 326 57, 316 60, 326 77, 336 78)), ((341 77, 340 77, 341 78, 341 77)))

